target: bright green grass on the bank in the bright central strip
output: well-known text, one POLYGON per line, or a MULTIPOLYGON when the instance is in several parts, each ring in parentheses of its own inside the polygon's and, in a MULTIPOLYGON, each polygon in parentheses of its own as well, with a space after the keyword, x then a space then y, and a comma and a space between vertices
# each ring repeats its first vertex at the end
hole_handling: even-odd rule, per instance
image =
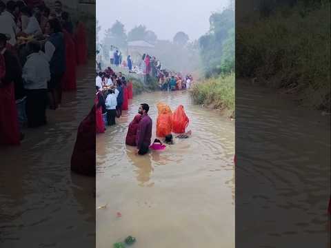
POLYGON ((194 103, 208 105, 234 114, 234 73, 205 79, 193 85, 190 94, 194 103))

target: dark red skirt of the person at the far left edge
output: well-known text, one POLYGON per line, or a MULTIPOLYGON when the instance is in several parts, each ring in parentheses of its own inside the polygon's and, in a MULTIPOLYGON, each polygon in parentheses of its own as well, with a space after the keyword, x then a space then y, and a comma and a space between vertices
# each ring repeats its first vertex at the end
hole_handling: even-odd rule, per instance
POLYGON ((14 84, 9 83, 0 87, 0 145, 19 145, 19 138, 14 84))

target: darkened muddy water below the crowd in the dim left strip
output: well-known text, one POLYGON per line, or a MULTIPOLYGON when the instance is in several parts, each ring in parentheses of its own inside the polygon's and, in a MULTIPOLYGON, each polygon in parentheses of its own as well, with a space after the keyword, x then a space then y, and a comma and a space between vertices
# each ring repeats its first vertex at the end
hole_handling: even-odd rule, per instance
POLYGON ((93 105, 94 63, 77 75, 77 92, 47 112, 48 125, 24 130, 19 147, 0 147, 0 247, 95 245, 95 178, 70 172, 78 125, 93 105))

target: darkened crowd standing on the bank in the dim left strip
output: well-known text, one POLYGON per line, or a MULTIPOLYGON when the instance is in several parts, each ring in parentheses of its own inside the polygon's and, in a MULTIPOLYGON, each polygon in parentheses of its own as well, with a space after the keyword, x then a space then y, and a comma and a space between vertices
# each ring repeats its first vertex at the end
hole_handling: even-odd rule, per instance
POLYGON ((86 30, 61 1, 0 1, 0 145, 19 145, 23 128, 47 124, 62 91, 76 90, 87 62, 86 30))

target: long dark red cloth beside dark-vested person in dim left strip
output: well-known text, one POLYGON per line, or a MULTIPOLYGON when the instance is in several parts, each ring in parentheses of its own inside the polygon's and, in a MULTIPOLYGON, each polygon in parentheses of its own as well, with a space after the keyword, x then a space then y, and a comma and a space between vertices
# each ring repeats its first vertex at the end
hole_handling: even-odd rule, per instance
POLYGON ((64 41, 66 42, 66 72, 62 78, 62 88, 64 91, 76 90, 76 50, 72 36, 63 30, 64 41))

